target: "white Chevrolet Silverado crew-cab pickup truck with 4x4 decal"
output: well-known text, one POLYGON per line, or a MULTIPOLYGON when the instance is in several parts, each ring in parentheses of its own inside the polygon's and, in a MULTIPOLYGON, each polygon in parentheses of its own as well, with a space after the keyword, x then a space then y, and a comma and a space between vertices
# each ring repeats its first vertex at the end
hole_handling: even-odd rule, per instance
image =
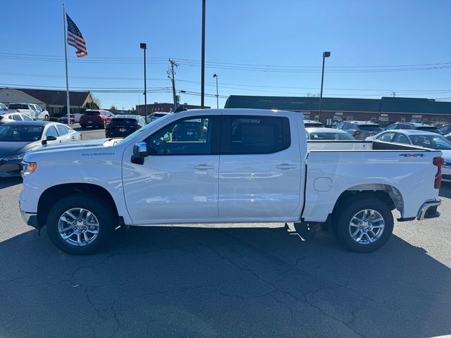
POLYGON ((125 139, 27 153, 20 211, 73 254, 99 249, 118 226, 224 223, 325 223, 345 248, 368 252, 387 242, 395 208, 399 221, 440 215, 440 151, 365 141, 309 148, 301 113, 168 114, 125 139))

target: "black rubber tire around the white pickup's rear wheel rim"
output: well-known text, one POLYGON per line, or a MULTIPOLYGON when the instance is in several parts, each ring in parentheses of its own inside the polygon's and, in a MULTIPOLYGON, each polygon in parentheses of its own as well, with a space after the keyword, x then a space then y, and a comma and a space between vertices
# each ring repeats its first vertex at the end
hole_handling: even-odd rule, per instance
MULTIPOLYGON (((338 239, 338 242, 340 242, 347 250, 355 252, 371 252, 381 248, 381 246, 390 239, 393 232, 393 214, 390 207, 383 203, 383 201, 376 199, 373 196, 357 195, 343 201, 341 205, 344 206, 344 208, 341 211, 336 211, 332 221, 332 230, 333 234, 335 234, 335 237, 338 239), (384 227, 380 237, 378 237, 375 242, 364 244, 359 243, 352 238, 350 223, 354 218, 354 215, 367 209, 372 209, 382 216, 384 227)), ((353 226, 352 229, 357 230, 357 227, 353 226)), ((377 229, 375 231, 377 232, 377 229)), ((366 238, 364 241, 369 242, 369 237, 366 237, 366 235, 364 237, 366 238)))

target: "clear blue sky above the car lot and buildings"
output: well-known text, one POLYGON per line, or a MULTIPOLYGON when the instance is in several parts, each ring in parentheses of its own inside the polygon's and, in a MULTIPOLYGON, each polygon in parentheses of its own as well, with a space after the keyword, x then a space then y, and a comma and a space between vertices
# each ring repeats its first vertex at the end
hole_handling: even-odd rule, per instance
MULTIPOLYGON (((1 9, 0 86, 65 87, 61 1, 1 9)), ((173 58, 176 88, 192 92, 181 102, 200 104, 201 9, 201 0, 66 0, 89 54, 77 59, 69 46, 70 88, 106 108, 142 104, 147 42, 147 101, 172 101, 173 58)), ((330 51, 323 96, 451 98, 450 10, 447 0, 206 0, 206 93, 216 94, 217 73, 221 96, 317 94, 330 51)))

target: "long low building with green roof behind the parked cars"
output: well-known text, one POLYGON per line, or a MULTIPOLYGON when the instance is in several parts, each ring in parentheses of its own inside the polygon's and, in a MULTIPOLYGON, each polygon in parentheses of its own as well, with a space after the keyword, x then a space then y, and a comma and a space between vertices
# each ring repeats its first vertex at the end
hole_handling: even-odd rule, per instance
POLYGON ((332 125, 344 120, 372 120, 380 125, 395 122, 423 122, 432 125, 451 123, 451 102, 408 97, 347 99, 323 97, 231 95, 224 108, 259 108, 299 111, 307 120, 332 125))

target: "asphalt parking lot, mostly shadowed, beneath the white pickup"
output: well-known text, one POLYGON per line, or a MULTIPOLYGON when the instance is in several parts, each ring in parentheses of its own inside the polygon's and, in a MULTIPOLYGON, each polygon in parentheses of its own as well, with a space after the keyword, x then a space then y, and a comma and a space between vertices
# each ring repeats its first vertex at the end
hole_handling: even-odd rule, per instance
MULTIPOLYGON (((83 131, 84 139, 103 130, 83 131)), ((24 225, 0 180, 0 337, 433 337, 451 333, 451 184, 441 217, 344 251, 273 229, 132 228, 92 256, 24 225)))

